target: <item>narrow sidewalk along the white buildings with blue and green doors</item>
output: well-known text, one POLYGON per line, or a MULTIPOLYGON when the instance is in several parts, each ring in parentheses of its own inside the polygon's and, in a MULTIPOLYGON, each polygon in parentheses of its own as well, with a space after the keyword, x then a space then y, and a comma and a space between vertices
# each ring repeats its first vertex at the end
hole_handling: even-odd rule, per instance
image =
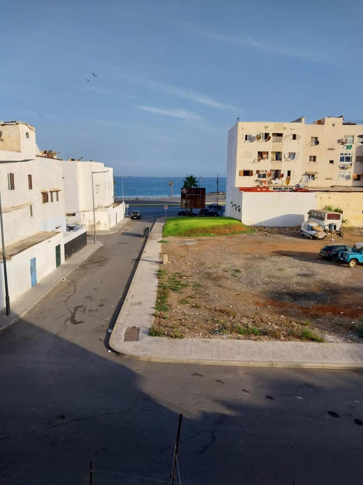
POLYGON ((39 283, 23 293, 14 302, 10 303, 11 315, 6 316, 5 308, 0 310, 0 330, 9 327, 13 323, 20 320, 26 315, 35 305, 37 305, 43 298, 53 290, 63 278, 66 278, 72 273, 83 261, 91 256, 103 244, 96 241, 88 243, 84 249, 67 259, 61 266, 52 271, 45 278, 41 279, 39 283))

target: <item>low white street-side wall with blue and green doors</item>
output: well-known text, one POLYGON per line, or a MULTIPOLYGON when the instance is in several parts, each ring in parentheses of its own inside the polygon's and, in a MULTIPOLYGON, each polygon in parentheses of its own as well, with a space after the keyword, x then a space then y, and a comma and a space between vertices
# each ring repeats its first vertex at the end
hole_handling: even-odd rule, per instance
MULTIPOLYGON (((61 263, 64 262, 63 234, 56 233, 45 241, 34 244, 6 261, 10 301, 31 288, 30 259, 36 258, 37 282, 56 269, 56 246, 61 244, 61 263)), ((0 261, 0 308, 5 307, 5 286, 2 259, 0 261)))

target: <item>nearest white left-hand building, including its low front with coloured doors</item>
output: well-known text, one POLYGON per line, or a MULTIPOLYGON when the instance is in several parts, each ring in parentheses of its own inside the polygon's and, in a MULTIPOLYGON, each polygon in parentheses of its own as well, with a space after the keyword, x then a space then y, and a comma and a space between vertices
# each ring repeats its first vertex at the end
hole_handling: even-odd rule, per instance
MULTIPOLYGON (((34 127, 0 122, 0 131, 0 191, 13 301, 64 261, 64 184, 61 160, 39 151, 34 127)), ((1 258, 0 308, 5 306, 3 278, 1 258)))

